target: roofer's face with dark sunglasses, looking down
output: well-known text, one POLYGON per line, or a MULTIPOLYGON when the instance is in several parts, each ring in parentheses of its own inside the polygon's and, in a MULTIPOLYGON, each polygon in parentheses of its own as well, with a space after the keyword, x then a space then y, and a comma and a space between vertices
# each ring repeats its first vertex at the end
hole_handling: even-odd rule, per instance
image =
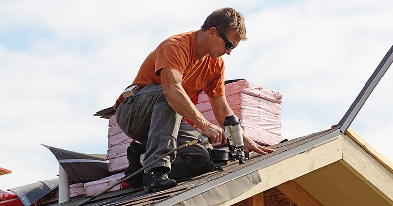
POLYGON ((233 49, 240 43, 241 38, 237 35, 236 31, 231 30, 228 35, 215 33, 212 41, 212 48, 209 52, 210 56, 214 59, 224 55, 230 55, 233 49))

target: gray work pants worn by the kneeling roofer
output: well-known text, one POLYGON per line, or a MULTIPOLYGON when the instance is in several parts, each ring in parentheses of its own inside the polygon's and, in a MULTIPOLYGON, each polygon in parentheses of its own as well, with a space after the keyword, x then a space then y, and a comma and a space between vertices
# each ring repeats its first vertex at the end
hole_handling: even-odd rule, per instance
MULTIPOLYGON (((200 132, 182 120, 168 104, 160 85, 150 84, 116 108, 117 124, 130 138, 146 146, 143 164, 186 142, 200 132)), ((170 178, 187 178, 212 170, 210 156, 202 145, 185 147, 146 168, 167 167, 170 178)))

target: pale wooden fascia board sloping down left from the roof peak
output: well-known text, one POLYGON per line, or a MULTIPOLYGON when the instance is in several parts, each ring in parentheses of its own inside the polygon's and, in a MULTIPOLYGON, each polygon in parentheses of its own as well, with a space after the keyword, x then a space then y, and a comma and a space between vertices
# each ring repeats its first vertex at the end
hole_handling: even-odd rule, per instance
POLYGON ((342 159, 342 136, 258 170, 262 182, 220 205, 230 206, 342 159))

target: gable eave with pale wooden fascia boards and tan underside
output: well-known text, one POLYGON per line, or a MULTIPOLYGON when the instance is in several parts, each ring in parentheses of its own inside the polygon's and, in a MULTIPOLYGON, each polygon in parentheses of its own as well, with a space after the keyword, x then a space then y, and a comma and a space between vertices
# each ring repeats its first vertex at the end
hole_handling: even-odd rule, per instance
MULTIPOLYGON (((350 130, 351 131, 351 130, 350 130)), ((347 132, 347 135, 350 132, 347 132)), ((318 172, 327 174, 339 168, 352 180, 352 185, 341 185, 344 192, 331 191, 335 198, 348 201, 348 203, 362 204, 362 198, 343 197, 345 190, 351 186, 361 185, 368 191, 365 196, 372 197, 381 205, 393 205, 393 173, 389 167, 369 154, 351 137, 343 135, 339 129, 306 144, 291 148, 275 156, 261 160, 248 167, 232 172, 216 180, 209 181, 194 189, 166 199, 157 205, 224 205, 229 206, 247 198, 253 197, 270 188, 277 187, 285 182, 294 180, 309 192, 317 201, 329 205, 333 201, 328 194, 318 194, 309 189, 313 177, 318 172), (307 180, 310 182, 307 183, 307 180), (239 181, 247 181, 250 188, 239 187, 239 181), (238 194, 219 195, 225 188, 236 188, 238 194), (246 190, 246 191, 244 191, 246 190), (341 197, 338 197, 341 195, 341 197)), ((318 177, 318 176, 315 176, 318 177)), ((331 181, 334 184, 334 178, 331 181)), ((338 182, 339 183, 339 182, 338 182)), ((323 185, 323 184, 321 184, 323 185)), ((353 191, 350 191, 353 193, 353 191)), ((348 193, 349 194, 349 193, 348 193)))

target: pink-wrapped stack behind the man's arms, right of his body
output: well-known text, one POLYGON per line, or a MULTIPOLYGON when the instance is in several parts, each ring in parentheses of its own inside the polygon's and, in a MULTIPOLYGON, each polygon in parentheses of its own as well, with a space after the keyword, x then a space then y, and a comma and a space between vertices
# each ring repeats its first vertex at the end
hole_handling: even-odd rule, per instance
MULTIPOLYGON (((239 80, 225 84, 225 93, 229 106, 250 138, 268 145, 282 141, 280 92, 239 80)), ((199 94, 196 107, 208 121, 219 125, 204 92, 199 94)))

